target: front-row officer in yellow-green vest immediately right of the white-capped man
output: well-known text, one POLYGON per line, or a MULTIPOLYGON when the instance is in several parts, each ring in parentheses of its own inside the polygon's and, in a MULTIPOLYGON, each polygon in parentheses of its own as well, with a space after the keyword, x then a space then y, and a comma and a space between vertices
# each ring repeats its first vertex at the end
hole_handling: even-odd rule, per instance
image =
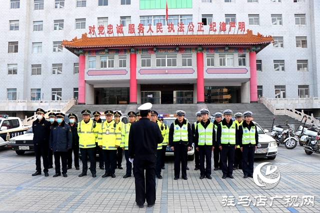
POLYGON ((187 152, 192 146, 192 130, 190 124, 184 119, 184 111, 178 110, 175 114, 177 119, 169 128, 169 146, 174 152, 174 180, 178 180, 180 176, 180 159, 182 179, 187 180, 186 162, 187 152))

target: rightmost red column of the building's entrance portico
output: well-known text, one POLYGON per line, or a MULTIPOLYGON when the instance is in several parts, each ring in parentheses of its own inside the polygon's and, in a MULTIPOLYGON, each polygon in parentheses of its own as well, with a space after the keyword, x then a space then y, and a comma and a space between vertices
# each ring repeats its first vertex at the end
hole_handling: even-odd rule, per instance
POLYGON ((256 76, 256 53, 249 53, 250 61, 250 102, 258 101, 258 92, 257 92, 257 76, 256 76))

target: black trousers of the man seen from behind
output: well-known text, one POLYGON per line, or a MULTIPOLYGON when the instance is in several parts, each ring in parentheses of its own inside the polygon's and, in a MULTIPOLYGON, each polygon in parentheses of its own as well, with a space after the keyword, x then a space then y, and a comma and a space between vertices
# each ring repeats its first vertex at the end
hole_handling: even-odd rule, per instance
POLYGON ((135 202, 142 206, 155 203, 155 155, 134 156, 135 202), (144 178, 145 168, 145 178, 144 178))

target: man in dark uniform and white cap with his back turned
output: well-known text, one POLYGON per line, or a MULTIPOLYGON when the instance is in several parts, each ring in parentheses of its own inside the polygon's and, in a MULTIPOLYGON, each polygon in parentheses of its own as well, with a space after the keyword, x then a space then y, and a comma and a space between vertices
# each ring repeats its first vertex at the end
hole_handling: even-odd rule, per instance
POLYGON ((129 132, 128 156, 131 163, 134 159, 135 202, 139 208, 145 200, 149 208, 155 204, 156 149, 163 141, 159 126, 150 122, 151 107, 145 103, 138 108, 141 119, 131 124, 129 132))

